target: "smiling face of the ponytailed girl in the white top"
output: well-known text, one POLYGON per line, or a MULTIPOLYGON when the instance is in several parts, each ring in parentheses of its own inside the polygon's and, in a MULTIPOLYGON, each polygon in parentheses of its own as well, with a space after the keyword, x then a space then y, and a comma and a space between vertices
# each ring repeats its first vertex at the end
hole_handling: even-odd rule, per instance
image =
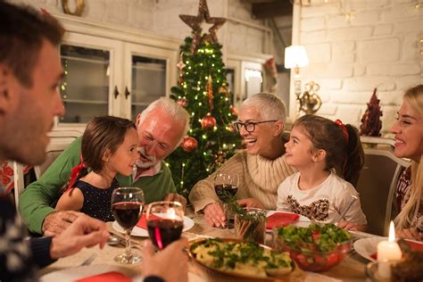
POLYGON ((313 145, 310 138, 305 135, 301 126, 291 130, 289 141, 285 144, 286 163, 296 169, 301 169, 313 162, 313 145))

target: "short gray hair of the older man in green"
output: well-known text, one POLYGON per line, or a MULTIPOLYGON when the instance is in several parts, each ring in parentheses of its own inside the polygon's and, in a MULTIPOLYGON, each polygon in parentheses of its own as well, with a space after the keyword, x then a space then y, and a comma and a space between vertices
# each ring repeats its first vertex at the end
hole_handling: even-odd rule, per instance
POLYGON ((178 120, 184 125, 184 131, 182 132, 182 136, 178 141, 178 145, 180 145, 189 130, 189 114, 187 110, 181 107, 174 100, 168 97, 161 97, 160 99, 155 100, 153 103, 149 104, 143 112, 140 113, 141 116, 139 118, 139 123, 145 120, 145 117, 148 115, 148 113, 159 107, 162 108, 164 112, 167 112, 170 117, 173 118, 173 120, 178 120))

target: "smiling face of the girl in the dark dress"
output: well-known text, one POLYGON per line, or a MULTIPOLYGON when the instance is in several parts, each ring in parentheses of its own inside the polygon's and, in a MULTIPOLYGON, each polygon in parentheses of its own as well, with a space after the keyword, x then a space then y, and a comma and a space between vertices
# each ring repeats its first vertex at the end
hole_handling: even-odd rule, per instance
POLYGON ((138 160, 138 136, 136 129, 129 129, 123 143, 113 153, 107 165, 121 175, 129 176, 138 160))

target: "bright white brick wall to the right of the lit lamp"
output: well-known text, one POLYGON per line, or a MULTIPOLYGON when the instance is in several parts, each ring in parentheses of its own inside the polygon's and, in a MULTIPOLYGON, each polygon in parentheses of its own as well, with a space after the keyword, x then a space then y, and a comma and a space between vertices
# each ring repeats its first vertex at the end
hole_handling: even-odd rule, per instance
POLYGON ((317 2, 300 8, 297 36, 310 58, 301 70, 303 83, 321 87, 318 114, 358 126, 377 87, 386 131, 404 90, 423 83, 423 7, 412 0, 317 2), (352 13, 350 21, 339 3, 352 13))

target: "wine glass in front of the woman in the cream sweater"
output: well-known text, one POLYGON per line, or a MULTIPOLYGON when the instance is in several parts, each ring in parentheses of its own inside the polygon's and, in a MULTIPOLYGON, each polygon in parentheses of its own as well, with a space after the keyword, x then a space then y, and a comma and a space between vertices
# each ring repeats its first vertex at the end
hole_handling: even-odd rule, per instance
POLYGON ((214 191, 222 202, 222 210, 225 215, 223 228, 234 228, 234 214, 228 207, 228 202, 235 197, 238 191, 239 177, 235 172, 218 172, 214 177, 214 191))

